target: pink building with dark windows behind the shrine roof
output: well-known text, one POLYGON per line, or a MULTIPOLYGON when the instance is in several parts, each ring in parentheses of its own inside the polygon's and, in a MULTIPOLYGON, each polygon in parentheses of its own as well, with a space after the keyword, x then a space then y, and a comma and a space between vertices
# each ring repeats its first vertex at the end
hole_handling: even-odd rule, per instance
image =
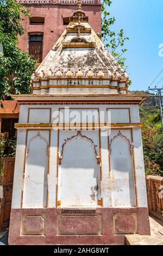
MULTIPOLYGON (((40 63, 51 50, 59 35, 77 9, 76 0, 17 0, 30 9, 31 18, 24 17, 24 34, 18 47, 40 63)), ((101 32, 101 0, 83 0, 82 8, 96 33, 101 32)))

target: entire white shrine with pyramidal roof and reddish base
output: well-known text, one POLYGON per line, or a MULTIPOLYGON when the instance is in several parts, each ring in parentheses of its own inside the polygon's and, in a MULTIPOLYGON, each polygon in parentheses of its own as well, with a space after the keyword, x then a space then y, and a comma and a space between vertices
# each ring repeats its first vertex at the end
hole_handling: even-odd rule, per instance
POLYGON ((139 105, 78 10, 20 105, 10 245, 123 245, 149 235, 139 105))

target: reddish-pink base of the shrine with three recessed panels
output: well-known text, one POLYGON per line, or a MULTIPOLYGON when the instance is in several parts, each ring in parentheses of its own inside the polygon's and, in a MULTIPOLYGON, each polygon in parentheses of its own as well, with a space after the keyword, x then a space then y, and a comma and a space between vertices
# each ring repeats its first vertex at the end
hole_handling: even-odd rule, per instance
POLYGON ((124 245, 150 235, 147 208, 12 209, 9 245, 124 245))

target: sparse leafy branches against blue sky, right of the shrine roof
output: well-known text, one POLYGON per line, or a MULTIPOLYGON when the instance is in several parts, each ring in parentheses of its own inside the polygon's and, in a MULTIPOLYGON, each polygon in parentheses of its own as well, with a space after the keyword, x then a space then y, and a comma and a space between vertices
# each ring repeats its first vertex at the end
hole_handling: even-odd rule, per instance
POLYGON ((123 29, 117 34, 112 31, 111 27, 114 25, 116 19, 115 17, 111 17, 109 13, 111 3, 110 0, 103 0, 102 2, 102 39, 117 62, 126 70, 128 67, 125 65, 126 58, 123 57, 123 54, 127 52, 127 49, 124 48, 124 43, 129 38, 124 36, 123 29))

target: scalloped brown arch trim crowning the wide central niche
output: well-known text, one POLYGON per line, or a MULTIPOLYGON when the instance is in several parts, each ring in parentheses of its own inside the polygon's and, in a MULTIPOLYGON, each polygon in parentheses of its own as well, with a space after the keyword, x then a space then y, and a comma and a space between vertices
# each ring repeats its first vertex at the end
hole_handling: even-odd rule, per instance
POLYGON ((82 137, 82 138, 84 138, 84 139, 87 139, 87 140, 93 145, 93 149, 94 149, 94 151, 95 151, 97 163, 100 164, 100 159, 101 159, 101 157, 100 157, 100 155, 97 154, 97 145, 93 142, 93 140, 92 140, 91 138, 88 138, 87 136, 83 135, 83 134, 82 134, 82 131, 77 131, 77 134, 76 134, 76 135, 73 135, 73 136, 71 136, 71 137, 65 139, 64 143, 61 145, 61 154, 60 154, 60 156, 59 156, 59 164, 61 164, 62 156, 63 156, 63 154, 64 154, 64 147, 65 147, 65 145, 66 145, 69 141, 71 141, 72 139, 77 138, 78 136, 80 136, 80 137, 82 137))

